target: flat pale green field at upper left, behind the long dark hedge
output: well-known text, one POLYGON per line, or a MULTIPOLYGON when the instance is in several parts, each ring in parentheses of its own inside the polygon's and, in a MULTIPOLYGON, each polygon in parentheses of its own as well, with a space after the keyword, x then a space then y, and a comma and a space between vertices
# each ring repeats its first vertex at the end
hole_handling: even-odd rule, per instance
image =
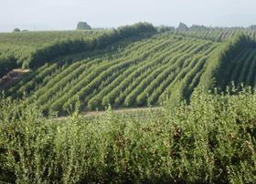
POLYGON ((0 34, 0 77, 27 62, 38 49, 64 40, 86 40, 101 36, 105 31, 56 31, 0 34))

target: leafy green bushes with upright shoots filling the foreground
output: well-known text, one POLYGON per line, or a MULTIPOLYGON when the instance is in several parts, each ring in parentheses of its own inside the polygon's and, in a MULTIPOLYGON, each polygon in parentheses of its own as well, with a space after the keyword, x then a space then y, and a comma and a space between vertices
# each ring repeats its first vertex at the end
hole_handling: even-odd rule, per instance
POLYGON ((195 93, 150 120, 75 113, 64 122, 0 104, 0 180, 17 183, 256 181, 256 95, 195 93))

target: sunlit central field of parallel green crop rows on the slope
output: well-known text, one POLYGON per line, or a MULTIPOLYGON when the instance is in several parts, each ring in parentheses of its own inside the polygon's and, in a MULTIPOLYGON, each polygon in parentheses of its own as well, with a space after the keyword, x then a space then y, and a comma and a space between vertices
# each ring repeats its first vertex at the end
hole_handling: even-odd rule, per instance
POLYGON ((197 86, 211 41, 163 34, 135 42, 111 56, 97 55, 71 65, 47 64, 23 77, 6 94, 37 100, 44 109, 67 111, 79 99, 82 107, 137 107, 159 102, 165 89, 182 80, 197 86))

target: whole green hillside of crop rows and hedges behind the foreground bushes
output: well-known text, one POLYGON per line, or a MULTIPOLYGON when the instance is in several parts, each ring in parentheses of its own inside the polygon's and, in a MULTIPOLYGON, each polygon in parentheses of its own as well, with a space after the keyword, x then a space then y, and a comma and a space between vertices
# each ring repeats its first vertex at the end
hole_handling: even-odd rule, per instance
POLYGON ((139 23, 102 31, 0 34, 5 46, 35 49, 21 63, 14 59, 16 66, 6 70, 23 66, 31 72, 7 87, 2 81, 0 87, 6 96, 36 102, 45 114, 66 114, 77 101, 81 110, 158 106, 165 97, 176 104, 189 100, 198 84, 224 89, 234 81, 253 87, 255 33, 157 32, 139 23), (57 41, 51 41, 54 37, 57 41))

